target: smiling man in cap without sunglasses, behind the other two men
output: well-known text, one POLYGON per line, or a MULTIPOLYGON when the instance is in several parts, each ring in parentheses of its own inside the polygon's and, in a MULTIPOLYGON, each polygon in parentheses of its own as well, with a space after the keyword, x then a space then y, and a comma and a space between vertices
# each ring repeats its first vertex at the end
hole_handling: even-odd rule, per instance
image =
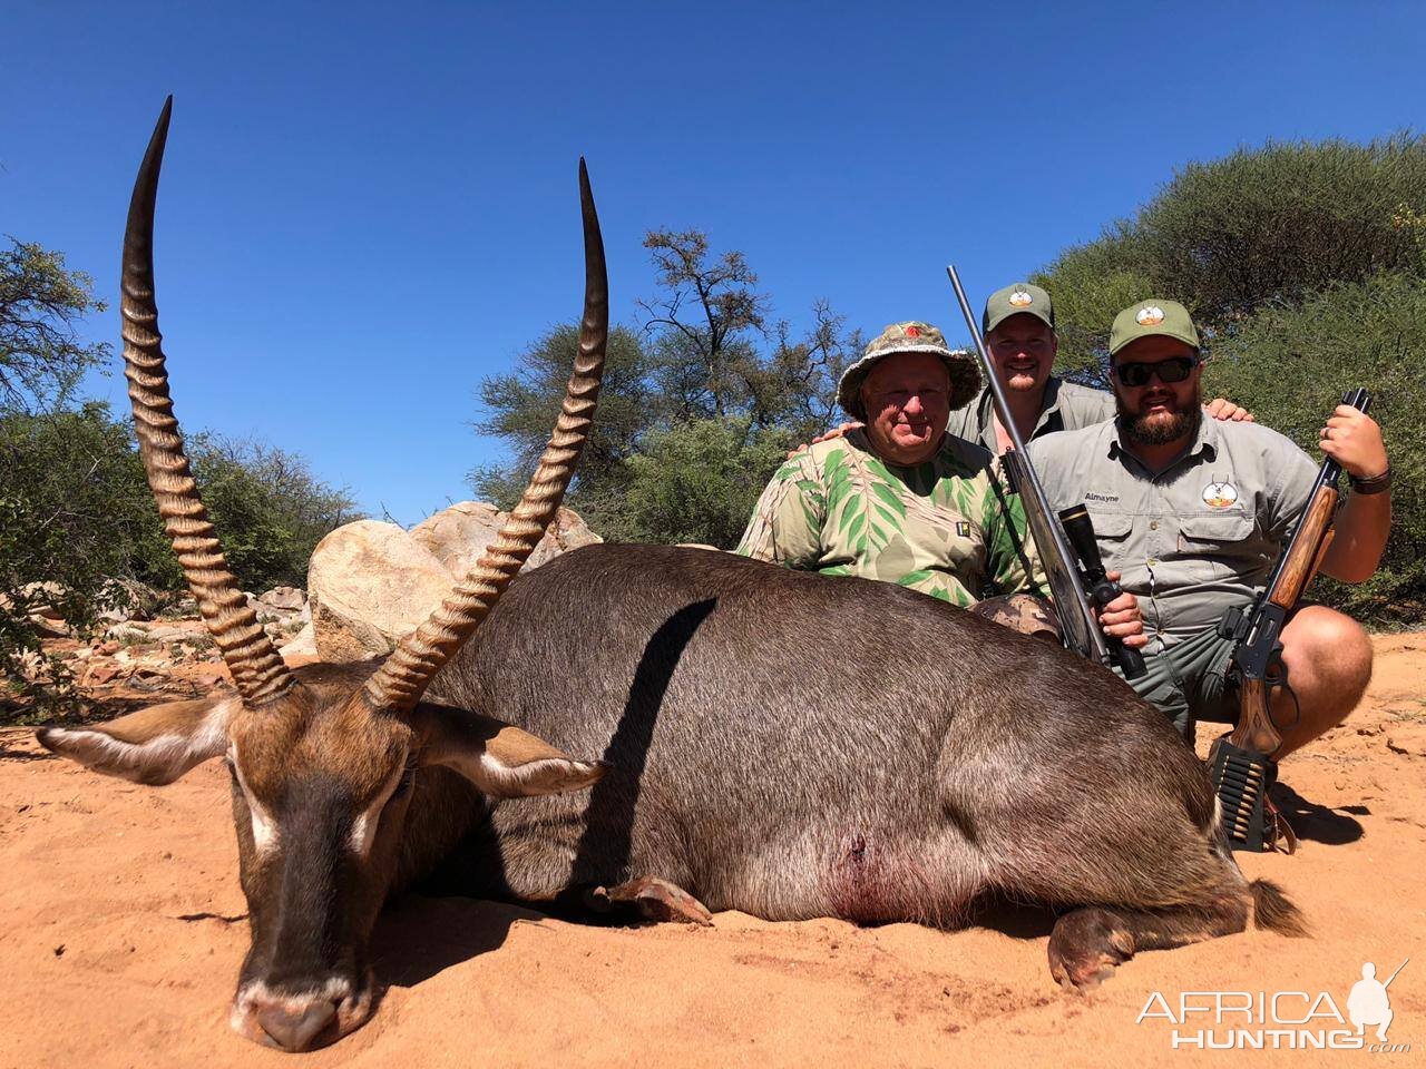
MULTIPOLYGON (((1114 416, 1112 393, 1051 373, 1060 345, 1055 306, 1040 286, 1015 282, 991 294, 981 314, 981 334, 1022 440, 1077 430, 1114 416)), ((1215 419, 1252 420, 1245 409, 1222 398, 1209 402, 1208 412, 1215 419)), ((980 442, 997 456, 1010 448, 990 386, 951 412, 950 430, 980 442)))

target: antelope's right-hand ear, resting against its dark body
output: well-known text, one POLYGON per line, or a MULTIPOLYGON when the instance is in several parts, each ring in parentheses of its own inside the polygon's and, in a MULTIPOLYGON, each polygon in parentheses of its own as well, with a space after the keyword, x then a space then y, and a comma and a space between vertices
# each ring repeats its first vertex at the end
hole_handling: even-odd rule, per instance
POLYGON ((596 783, 607 765, 576 761, 543 738, 503 720, 451 706, 421 703, 422 764, 453 768, 493 798, 578 791, 596 783))

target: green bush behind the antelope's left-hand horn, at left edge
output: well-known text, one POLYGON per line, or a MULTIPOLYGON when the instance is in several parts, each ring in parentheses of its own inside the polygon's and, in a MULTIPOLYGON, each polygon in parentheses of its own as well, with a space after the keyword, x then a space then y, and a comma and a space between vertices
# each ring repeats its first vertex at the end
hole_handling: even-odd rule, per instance
MULTIPOLYGON (((245 590, 304 586, 318 540, 361 515, 345 490, 322 485, 281 449, 200 435, 190 453, 245 590)), ((30 613, 48 604, 87 631, 131 597, 117 579, 184 589, 128 423, 100 402, 0 412, 0 671, 31 716, 73 708, 73 680, 57 660, 34 671, 41 636, 30 613)))

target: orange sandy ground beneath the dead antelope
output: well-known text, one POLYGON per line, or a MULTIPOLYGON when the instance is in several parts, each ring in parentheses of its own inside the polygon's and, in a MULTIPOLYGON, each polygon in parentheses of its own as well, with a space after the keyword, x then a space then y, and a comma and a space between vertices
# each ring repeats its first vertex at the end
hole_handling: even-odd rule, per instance
POLYGON ((143 788, 6 730, 0 1066, 1222 1063, 1235 1055, 1175 1050, 1162 1018, 1135 1023, 1151 995, 1176 1008, 1192 991, 1325 991, 1345 1013, 1365 961, 1385 978, 1407 956, 1389 1040, 1410 1050, 1236 1056, 1426 1063, 1426 634, 1376 646, 1362 708, 1283 767, 1302 849, 1239 855, 1306 911, 1310 939, 1248 932, 1144 954, 1071 995, 1050 979, 1050 922, 1034 911, 957 932, 742 914, 712 929, 597 928, 408 897, 376 932, 389 986, 374 1021, 295 1056, 225 1023, 247 908, 221 765, 143 788))

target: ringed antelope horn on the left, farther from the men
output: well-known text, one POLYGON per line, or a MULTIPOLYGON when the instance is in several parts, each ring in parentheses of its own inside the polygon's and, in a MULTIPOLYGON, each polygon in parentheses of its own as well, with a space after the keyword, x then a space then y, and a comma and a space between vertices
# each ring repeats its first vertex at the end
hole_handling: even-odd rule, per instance
POLYGON ((248 609, 198 497, 184 453, 183 432, 168 396, 168 371, 164 366, 163 335, 158 332, 158 305, 154 301, 154 202, 173 104, 173 97, 164 101, 154 137, 138 168, 138 178, 134 180, 134 197, 128 202, 121 298, 124 378, 128 379, 128 399, 134 409, 138 455, 144 460, 158 515, 164 517, 164 532, 178 554, 188 589, 198 601, 198 611, 202 613, 214 643, 222 651, 238 693, 248 706, 260 706, 285 693, 295 677, 258 624, 257 613, 248 609))

